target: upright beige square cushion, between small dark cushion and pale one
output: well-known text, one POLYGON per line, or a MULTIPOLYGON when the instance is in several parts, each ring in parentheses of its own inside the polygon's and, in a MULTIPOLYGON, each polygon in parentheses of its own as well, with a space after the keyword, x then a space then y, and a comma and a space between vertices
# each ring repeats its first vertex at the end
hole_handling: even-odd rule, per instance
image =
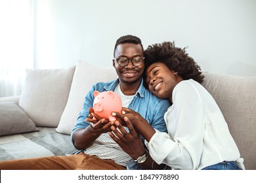
POLYGON ((19 105, 37 126, 56 127, 66 106, 75 66, 28 69, 19 105))

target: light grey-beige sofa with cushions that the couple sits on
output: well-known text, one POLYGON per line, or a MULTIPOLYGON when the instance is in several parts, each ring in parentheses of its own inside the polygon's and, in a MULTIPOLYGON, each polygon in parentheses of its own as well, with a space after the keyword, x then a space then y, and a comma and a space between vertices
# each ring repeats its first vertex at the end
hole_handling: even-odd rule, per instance
MULTIPOLYGON (((245 169, 256 169, 256 76, 206 72, 204 75, 203 86, 221 108, 244 158, 245 169)), ((68 69, 29 70, 20 96, 0 98, 0 114, 3 114, 5 105, 14 103, 34 126, 20 128, 20 131, 12 128, 27 125, 26 122, 21 124, 21 120, 11 120, 15 116, 10 113, 13 112, 12 107, 10 112, 0 116, 1 129, 7 129, 0 130, 0 161, 65 156, 75 152, 70 133, 83 106, 85 94, 95 82, 116 77, 112 67, 98 67, 83 61, 68 69)))

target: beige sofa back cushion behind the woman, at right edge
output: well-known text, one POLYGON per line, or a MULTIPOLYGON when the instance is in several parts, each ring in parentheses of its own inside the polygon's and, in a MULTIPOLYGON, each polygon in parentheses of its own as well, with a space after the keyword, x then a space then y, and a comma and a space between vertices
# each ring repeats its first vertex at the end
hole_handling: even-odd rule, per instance
POLYGON ((256 76, 204 75, 203 86, 221 108, 245 169, 255 169, 256 76))

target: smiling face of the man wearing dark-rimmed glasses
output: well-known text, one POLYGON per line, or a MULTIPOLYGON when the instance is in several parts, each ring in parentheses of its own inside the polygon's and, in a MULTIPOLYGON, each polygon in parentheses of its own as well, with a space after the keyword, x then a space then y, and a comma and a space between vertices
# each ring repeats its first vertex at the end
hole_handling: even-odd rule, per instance
MULTIPOLYGON (((116 48, 115 58, 128 58, 133 59, 135 57, 143 57, 143 50, 140 44, 119 44, 116 48)), ((139 66, 133 65, 132 61, 129 60, 128 65, 121 67, 117 60, 113 61, 113 66, 116 69, 116 73, 119 80, 124 84, 134 84, 140 82, 142 73, 144 70, 144 61, 139 66)))

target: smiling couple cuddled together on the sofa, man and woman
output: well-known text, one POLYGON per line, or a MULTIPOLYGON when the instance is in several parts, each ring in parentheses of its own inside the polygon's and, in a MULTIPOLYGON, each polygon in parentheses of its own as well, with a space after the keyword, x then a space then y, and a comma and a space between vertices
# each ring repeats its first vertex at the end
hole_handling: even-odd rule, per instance
POLYGON ((144 51, 138 37, 126 35, 116 41, 113 66, 117 80, 95 84, 85 97, 71 135, 79 154, 2 161, 0 169, 244 169, 221 110, 200 84, 200 67, 184 49, 163 42, 144 51), (93 113, 95 90, 121 97, 117 121, 93 113))

